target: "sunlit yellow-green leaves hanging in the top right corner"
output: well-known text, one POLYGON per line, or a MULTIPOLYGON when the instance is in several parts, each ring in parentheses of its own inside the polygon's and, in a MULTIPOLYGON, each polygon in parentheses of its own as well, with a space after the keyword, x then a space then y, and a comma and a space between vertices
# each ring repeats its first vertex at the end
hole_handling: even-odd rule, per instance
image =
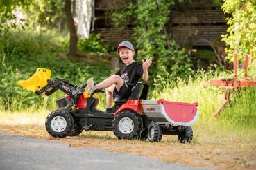
POLYGON ((228 45, 226 52, 228 59, 234 53, 239 53, 239 58, 244 55, 256 53, 256 3, 250 0, 225 0, 223 11, 232 15, 228 17, 228 34, 222 35, 223 41, 228 45), (236 51, 237 50, 237 51, 236 51))

